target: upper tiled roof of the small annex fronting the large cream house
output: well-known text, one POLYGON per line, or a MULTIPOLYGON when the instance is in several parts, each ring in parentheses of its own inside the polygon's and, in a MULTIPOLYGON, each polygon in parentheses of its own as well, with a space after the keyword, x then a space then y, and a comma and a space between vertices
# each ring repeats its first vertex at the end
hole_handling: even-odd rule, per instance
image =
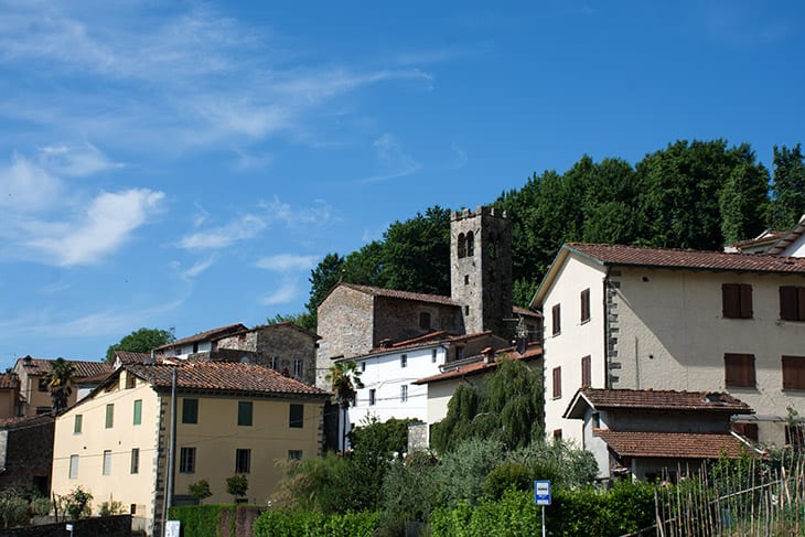
POLYGON ((749 405, 724 393, 581 388, 568 405, 565 417, 583 418, 582 402, 597 409, 709 411, 730 415, 753 412, 749 405))

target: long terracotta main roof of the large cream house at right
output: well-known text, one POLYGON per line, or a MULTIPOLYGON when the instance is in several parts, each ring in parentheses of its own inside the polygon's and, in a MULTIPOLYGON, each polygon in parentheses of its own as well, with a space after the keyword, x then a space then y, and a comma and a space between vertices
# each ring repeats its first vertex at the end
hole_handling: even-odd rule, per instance
POLYGON ((805 258, 798 257, 581 243, 570 243, 565 247, 604 265, 805 273, 805 258))

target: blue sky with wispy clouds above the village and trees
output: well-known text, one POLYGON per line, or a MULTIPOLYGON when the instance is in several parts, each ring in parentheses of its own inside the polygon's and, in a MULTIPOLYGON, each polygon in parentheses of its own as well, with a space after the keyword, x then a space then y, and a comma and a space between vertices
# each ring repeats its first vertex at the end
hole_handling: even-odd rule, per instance
POLYGON ((583 153, 805 141, 805 8, 0 0, 0 369, 301 311, 310 269, 583 153))

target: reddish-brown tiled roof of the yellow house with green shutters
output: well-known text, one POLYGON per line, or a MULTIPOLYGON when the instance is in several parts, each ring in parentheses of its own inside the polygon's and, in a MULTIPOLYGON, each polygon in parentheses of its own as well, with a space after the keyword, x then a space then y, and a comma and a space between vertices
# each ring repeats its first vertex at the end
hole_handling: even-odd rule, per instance
POLYGON ((170 389, 173 370, 179 389, 237 391, 260 395, 329 397, 324 390, 308 386, 278 372, 256 364, 232 362, 187 362, 179 365, 135 364, 125 366, 157 389, 170 389))

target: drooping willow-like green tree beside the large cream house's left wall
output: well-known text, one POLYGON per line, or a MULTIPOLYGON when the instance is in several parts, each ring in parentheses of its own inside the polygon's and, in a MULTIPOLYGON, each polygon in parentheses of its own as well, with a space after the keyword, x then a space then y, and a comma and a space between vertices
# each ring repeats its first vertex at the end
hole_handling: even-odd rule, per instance
POLYGON ((541 438, 543 430, 541 376, 520 361, 502 359, 483 391, 457 388, 447 417, 431 428, 431 443, 447 452, 466 439, 492 438, 514 449, 541 438))

